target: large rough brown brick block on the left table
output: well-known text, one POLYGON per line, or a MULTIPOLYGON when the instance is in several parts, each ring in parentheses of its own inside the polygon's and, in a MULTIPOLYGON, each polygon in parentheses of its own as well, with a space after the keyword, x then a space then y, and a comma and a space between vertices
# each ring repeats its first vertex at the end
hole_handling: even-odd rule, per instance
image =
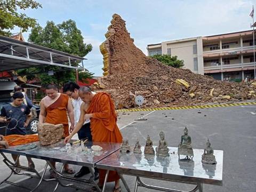
POLYGON ((63 137, 63 124, 42 123, 37 126, 39 142, 42 146, 57 143, 63 137))

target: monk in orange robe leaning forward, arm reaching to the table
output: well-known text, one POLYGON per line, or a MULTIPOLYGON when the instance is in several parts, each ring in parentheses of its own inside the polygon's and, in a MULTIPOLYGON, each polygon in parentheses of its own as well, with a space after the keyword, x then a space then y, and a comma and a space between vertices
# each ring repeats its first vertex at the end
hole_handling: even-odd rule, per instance
MULTIPOLYGON (((84 121, 90 118, 92 141, 121 143, 123 137, 116 124, 117 116, 110 95, 105 92, 93 94, 89 87, 81 87, 79 97, 84 101, 81 106, 81 116, 74 131, 65 138, 65 142, 69 142, 73 135, 81 129, 84 121)), ((99 170, 99 186, 103 185, 105 175, 106 170, 99 170)), ((109 172, 107 182, 112 181, 115 181, 114 191, 121 191, 116 171, 109 172)))

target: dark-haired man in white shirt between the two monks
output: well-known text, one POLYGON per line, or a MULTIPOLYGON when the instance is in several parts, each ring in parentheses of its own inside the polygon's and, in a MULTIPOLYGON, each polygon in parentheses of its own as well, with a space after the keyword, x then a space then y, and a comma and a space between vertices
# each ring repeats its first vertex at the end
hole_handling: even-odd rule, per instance
MULTIPOLYGON (((74 116, 75 116, 75 125, 79 120, 80 117, 80 107, 83 103, 82 99, 78 95, 79 85, 77 85, 74 82, 68 82, 63 86, 63 93, 67 94, 70 98, 72 98, 72 104, 73 104, 73 110, 74 110, 74 116)), ((95 94, 95 93, 94 93, 95 94)), ((72 131, 72 130, 71 130, 72 131)), ((89 141, 92 141, 92 135, 91 135, 91 128, 90 128, 90 119, 87 119, 84 122, 84 125, 82 126, 81 130, 78 131, 78 139, 84 140, 88 139, 89 141)), ((90 173, 88 167, 82 167, 78 173, 75 174, 74 177, 80 178, 85 174, 90 173)), ((98 177, 98 170, 95 169, 95 178, 98 177)))

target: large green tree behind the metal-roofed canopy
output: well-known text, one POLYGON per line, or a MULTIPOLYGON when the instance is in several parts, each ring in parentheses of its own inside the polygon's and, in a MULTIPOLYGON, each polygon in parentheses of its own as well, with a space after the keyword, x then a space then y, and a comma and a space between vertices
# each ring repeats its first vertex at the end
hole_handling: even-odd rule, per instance
MULTIPOLYGON (((37 45, 49 47, 51 49, 63 51, 69 54, 75 54, 84 57, 92 51, 91 44, 83 42, 81 31, 76 27, 73 20, 63 21, 59 25, 55 25, 53 21, 47 21, 46 26, 36 26, 31 30, 28 41, 37 45)), ((56 83, 63 84, 68 81, 75 81, 76 73, 74 70, 63 71, 60 67, 47 66, 45 71, 53 70, 54 75, 39 75, 42 84, 56 83)), ((79 73, 80 75, 80 73, 79 73)), ((93 74, 85 70, 83 76, 92 78, 93 74)))

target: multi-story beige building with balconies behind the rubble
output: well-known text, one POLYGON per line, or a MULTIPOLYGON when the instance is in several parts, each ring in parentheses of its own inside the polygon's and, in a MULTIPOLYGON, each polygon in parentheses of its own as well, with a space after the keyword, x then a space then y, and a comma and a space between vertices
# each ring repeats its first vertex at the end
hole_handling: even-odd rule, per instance
POLYGON ((150 44, 147 50, 148 55, 177 55, 184 68, 215 79, 254 78, 252 30, 150 44))

